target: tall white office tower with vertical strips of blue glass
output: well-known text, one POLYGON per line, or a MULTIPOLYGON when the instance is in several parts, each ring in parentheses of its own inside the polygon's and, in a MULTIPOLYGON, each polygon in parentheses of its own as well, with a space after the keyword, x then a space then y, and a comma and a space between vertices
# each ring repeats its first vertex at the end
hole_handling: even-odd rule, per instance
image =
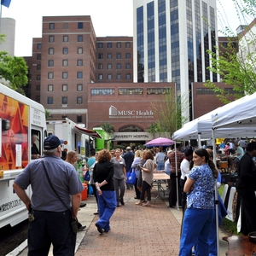
POLYGON ((216 0, 133 0, 133 20, 134 82, 175 82, 183 116, 193 119, 192 83, 218 81, 207 70, 218 37, 216 0))

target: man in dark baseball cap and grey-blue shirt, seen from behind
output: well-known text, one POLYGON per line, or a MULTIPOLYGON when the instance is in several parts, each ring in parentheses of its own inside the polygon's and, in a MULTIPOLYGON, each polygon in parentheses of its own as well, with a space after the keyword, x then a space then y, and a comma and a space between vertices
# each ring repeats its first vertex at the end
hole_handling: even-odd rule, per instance
POLYGON ((71 222, 77 218, 84 187, 75 168, 61 159, 58 137, 45 138, 44 158, 31 161, 15 178, 13 187, 32 217, 28 229, 28 254, 48 255, 52 243, 55 253, 74 255, 76 233, 73 233, 71 222), (61 200, 50 186, 43 161, 61 200), (31 199, 26 195, 29 185, 32 186, 31 199))

